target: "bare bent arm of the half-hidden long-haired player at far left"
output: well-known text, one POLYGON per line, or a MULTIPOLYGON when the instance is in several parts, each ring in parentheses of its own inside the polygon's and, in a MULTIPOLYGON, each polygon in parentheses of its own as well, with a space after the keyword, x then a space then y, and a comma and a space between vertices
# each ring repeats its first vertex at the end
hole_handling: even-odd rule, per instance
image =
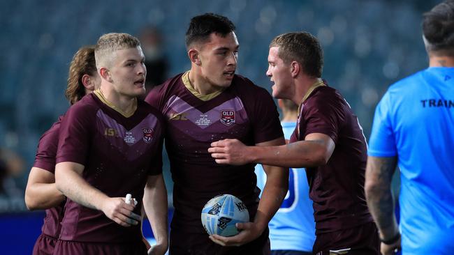
POLYGON ((32 167, 25 189, 25 204, 29 210, 45 210, 58 206, 65 196, 57 190, 54 173, 32 167))

